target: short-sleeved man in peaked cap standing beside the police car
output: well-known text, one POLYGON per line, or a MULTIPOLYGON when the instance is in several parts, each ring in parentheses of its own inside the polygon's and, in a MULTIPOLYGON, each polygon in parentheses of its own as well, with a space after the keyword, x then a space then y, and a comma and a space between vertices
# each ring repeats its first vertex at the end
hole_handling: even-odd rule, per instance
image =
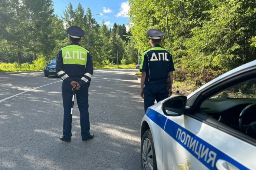
POLYGON ((171 53, 160 47, 164 33, 150 29, 147 31, 151 49, 144 51, 141 56, 141 90, 140 96, 144 99, 145 113, 148 107, 166 99, 173 93, 174 63, 171 53), (170 77, 170 86, 167 87, 167 78, 170 77))

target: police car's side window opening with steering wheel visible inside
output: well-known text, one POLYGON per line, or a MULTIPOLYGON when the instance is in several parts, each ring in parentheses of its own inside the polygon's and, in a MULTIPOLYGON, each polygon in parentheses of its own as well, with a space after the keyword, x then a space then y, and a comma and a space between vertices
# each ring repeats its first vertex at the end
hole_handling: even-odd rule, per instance
POLYGON ((236 84, 204 100, 200 111, 256 139, 256 79, 236 84))

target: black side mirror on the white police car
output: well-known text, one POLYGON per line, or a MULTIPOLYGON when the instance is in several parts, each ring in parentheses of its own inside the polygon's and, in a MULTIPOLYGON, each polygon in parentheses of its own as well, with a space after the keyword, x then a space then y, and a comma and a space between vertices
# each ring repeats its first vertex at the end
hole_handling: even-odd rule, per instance
POLYGON ((161 109, 167 116, 180 116, 184 114, 187 96, 178 95, 161 101, 161 109))

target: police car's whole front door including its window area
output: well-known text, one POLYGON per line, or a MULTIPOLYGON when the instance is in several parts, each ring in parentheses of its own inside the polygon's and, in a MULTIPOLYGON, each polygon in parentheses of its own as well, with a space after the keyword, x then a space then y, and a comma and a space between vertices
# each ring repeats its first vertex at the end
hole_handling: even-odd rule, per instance
MULTIPOLYGON (((216 94, 210 94, 214 89, 203 91, 189 114, 168 117, 163 136, 163 169, 256 169, 256 139, 238 127, 241 112, 256 103, 255 92, 251 92, 256 80, 236 82, 239 83, 230 81, 227 87, 214 87, 219 89, 216 94)), ((256 123, 255 114, 247 122, 256 123)))

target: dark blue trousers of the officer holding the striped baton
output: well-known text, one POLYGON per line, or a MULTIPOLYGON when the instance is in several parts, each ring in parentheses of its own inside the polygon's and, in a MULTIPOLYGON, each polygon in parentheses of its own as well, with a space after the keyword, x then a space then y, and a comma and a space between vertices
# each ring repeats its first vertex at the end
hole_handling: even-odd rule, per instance
MULTIPOLYGON (((63 118, 63 137, 65 139, 70 139, 72 136, 71 133, 71 124, 72 124, 72 114, 70 114, 72 107, 72 86, 71 84, 62 82, 62 99, 64 107, 64 118, 63 118)), ((76 91, 76 101, 78 104, 78 109, 80 111, 80 126, 82 139, 89 136, 90 131, 90 121, 89 121, 89 111, 88 111, 88 86, 81 87, 80 90, 76 91)))

